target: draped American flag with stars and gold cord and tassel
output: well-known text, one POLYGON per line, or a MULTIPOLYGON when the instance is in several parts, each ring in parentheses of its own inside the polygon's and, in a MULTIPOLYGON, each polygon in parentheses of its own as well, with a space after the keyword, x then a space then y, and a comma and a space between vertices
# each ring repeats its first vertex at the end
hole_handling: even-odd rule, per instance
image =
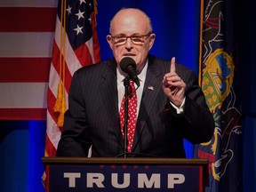
POLYGON ((48 87, 45 156, 55 156, 74 72, 100 61, 95 5, 92 0, 60 0, 58 4, 48 87))

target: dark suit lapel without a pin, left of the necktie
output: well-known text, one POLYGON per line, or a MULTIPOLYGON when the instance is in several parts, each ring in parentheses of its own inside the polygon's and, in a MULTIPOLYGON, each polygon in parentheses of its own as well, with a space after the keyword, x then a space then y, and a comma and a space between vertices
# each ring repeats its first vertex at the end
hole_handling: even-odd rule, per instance
POLYGON ((119 124, 117 103, 116 60, 108 60, 107 63, 103 65, 105 65, 105 68, 103 68, 101 74, 100 92, 107 108, 109 121, 114 128, 114 132, 116 132, 116 139, 123 148, 124 144, 119 124))

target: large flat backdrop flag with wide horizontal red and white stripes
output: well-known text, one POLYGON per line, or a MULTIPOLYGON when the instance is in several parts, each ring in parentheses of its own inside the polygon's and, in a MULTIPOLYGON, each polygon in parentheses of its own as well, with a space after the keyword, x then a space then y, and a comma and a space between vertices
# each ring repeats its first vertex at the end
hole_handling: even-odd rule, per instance
POLYGON ((0 1, 0 120, 46 118, 56 7, 53 0, 0 1))

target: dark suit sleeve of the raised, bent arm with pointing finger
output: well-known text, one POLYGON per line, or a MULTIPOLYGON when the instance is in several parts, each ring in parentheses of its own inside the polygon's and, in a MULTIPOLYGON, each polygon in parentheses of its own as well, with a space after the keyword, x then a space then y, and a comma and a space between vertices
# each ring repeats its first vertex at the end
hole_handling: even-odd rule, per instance
POLYGON ((214 119, 206 102, 204 93, 197 83, 192 70, 188 70, 183 81, 186 83, 186 102, 184 113, 178 116, 180 134, 191 143, 202 143, 212 139, 214 119))

